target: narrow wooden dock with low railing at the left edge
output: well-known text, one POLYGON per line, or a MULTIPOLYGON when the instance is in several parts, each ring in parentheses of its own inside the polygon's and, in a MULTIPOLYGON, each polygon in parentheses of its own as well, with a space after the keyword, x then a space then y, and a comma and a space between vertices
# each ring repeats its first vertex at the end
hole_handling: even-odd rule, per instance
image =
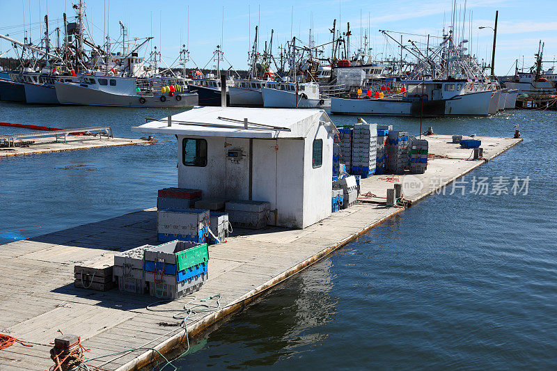
POLYGON ((102 138, 99 139, 96 136, 79 135, 79 136, 68 136, 66 141, 61 139, 50 138, 40 138, 33 139, 35 143, 26 146, 17 147, 0 147, 0 157, 10 157, 17 155, 34 155, 38 153, 48 153, 48 152, 63 152, 70 150, 86 150, 89 148, 99 148, 99 147, 117 147, 120 145, 146 145, 152 144, 154 142, 148 141, 146 139, 131 139, 131 138, 102 138))

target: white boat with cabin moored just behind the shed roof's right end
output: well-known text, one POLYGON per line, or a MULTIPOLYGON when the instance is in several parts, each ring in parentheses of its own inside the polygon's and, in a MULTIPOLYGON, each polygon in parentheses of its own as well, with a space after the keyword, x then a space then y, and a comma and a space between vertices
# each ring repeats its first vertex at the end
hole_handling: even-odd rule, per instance
POLYGON ((331 98, 322 97, 315 82, 269 82, 261 88, 263 106, 269 108, 329 108, 331 98))

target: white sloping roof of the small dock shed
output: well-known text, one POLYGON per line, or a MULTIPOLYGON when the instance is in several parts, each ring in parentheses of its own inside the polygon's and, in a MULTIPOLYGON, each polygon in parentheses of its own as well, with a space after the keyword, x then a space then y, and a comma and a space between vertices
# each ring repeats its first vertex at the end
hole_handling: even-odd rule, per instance
POLYGON ((171 126, 168 126, 166 117, 132 127, 132 132, 256 139, 305 138, 311 127, 320 122, 338 132, 327 113, 320 109, 195 106, 172 115, 171 126), (244 118, 248 119, 247 129, 244 118))

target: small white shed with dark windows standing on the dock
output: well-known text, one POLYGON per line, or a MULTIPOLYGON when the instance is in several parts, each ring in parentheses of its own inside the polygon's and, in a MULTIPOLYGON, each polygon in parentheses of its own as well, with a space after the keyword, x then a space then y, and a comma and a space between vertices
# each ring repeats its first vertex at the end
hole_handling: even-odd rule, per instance
POLYGON ((269 224, 289 228, 331 215, 338 130, 325 111, 194 107, 132 132, 175 134, 178 187, 203 198, 267 201, 269 224))

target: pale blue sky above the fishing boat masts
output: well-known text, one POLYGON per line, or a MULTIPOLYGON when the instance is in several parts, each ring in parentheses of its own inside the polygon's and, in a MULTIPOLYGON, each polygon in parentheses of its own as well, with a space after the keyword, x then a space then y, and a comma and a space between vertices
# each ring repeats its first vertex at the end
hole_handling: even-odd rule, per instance
MULTIPOLYGON (((162 48, 163 58, 172 63, 178 57, 180 45, 188 44, 191 57, 197 65, 210 68, 211 56, 221 43, 223 30, 223 50, 225 57, 234 68, 244 69, 247 53, 253 42, 253 28, 260 24, 261 43, 268 40, 274 29, 274 52, 276 46, 296 35, 304 42, 312 28, 317 43, 330 40, 329 28, 333 19, 345 29, 350 22, 352 29, 352 49, 360 45, 360 35, 370 23, 370 43, 373 53, 379 58, 398 54, 393 42, 378 32, 379 29, 440 35, 441 29, 450 19, 450 0, 409 0, 409 1, 349 1, 349 0, 306 0, 306 1, 146 1, 146 0, 88 0, 86 1, 88 29, 97 44, 102 43, 105 32, 105 13, 109 13, 111 38, 120 38, 118 21, 129 27, 132 37, 155 36, 155 44, 162 48), (187 8, 189 6, 189 26, 187 8), (223 10, 225 13, 224 22, 223 10), (161 30, 159 32, 159 29, 161 30), (188 32, 189 29, 189 32, 188 32), (251 30, 251 40, 249 38, 251 30), (188 37, 189 33, 189 37, 188 37)), ((464 9, 464 0, 457 0, 457 8, 464 9)), ((478 26, 493 26, 495 10, 499 10, 499 29, 495 59, 496 74, 514 71, 515 59, 519 65, 533 63, 533 54, 538 51, 538 40, 545 42, 545 60, 553 60, 557 54, 557 12, 555 0, 466 0, 466 38, 469 38, 469 11, 473 12, 472 45, 474 54, 480 58, 491 58, 493 33, 491 29, 478 30, 478 26)), ((35 22, 42 21, 45 13, 52 19, 51 31, 61 24, 61 14, 69 17, 74 12, 69 0, 0 0, 0 33, 10 33, 13 38, 23 39, 23 17, 31 37, 38 39, 40 30, 35 22), (58 19, 58 21, 56 21, 58 19)), ((395 34, 393 34, 395 35, 395 34)), ((395 35, 400 38, 400 35, 395 35)), ((414 35, 408 39, 423 41, 414 35)), ((0 54, 10 45, 0 43, 0 54)), ((144 48, 147 53, 150 47, 144 48)), ((189 63, 193 68, 194 64, 189 63)), ((548 64, 547 67, 550 65, 548 64)), ((228 68, 228 63, 226 64, 228 68)))

